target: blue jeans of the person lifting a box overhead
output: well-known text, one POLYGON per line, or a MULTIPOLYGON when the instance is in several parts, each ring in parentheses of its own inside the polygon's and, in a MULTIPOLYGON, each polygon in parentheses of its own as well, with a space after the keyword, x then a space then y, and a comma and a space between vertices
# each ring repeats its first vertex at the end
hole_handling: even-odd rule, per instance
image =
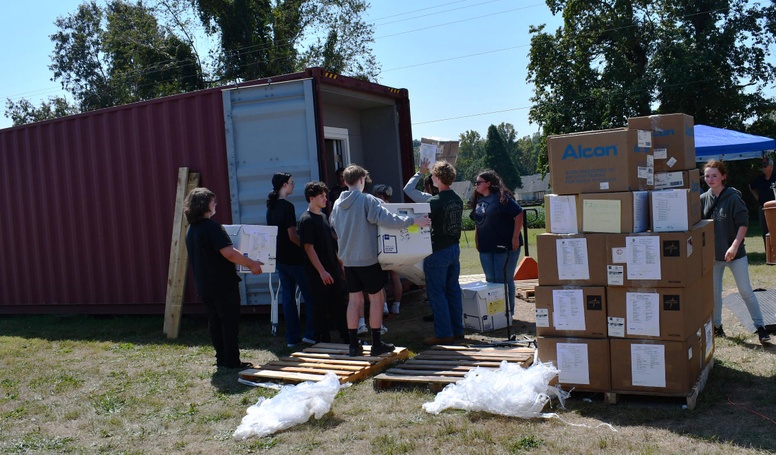
POLYGON ((461 249, 452 245, 435 251, 423 260, 426 274, 426 295, 434 313, 434 335, 450 338, 463 335, 463 300, 458 277, 461 249))

